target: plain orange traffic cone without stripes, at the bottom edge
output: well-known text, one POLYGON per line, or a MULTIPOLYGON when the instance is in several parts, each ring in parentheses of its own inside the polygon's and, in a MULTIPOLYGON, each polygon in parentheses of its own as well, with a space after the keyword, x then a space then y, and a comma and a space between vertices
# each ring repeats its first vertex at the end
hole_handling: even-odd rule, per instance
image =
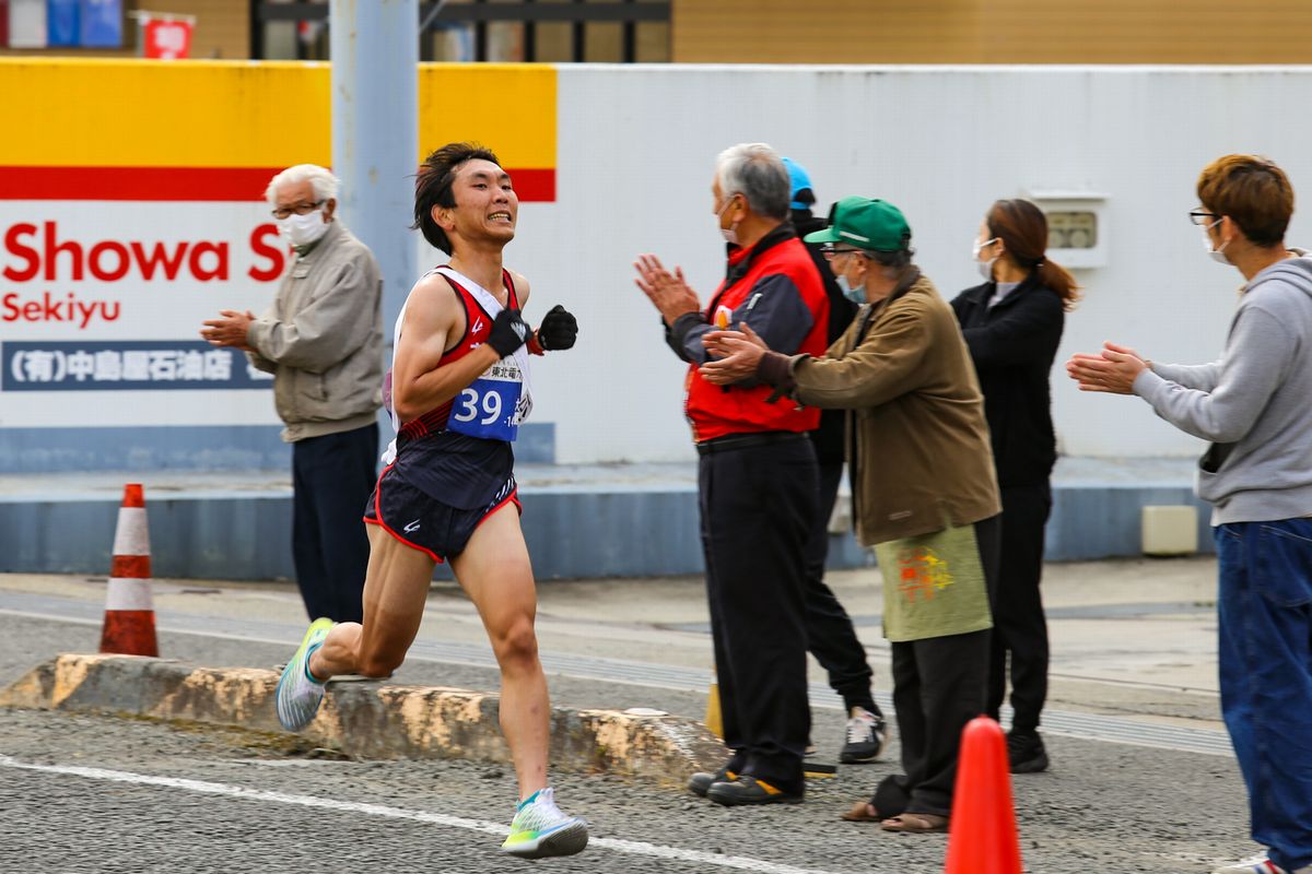
POLYGON ((962 731, 943 874, 1021 874, 1012 768, 1002 729, 976 717, 962 731))

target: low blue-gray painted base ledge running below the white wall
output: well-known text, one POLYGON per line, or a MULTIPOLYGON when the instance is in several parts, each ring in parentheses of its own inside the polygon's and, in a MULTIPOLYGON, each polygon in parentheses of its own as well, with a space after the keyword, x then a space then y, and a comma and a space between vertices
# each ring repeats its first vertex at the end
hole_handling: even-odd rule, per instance
MULTIPOLYGON (((698 574, 693 489, 522 493, 523 531, 541 579, 698 574)), ((1187 487, 1057 486, 1050 561, 1140 554, 1140 507, 1199 507, 1199 548, 1212 552, 1208 510, 1187 487)), ((147 495, 156 577, 291 578, 291 497, 147 495)), ((0 570, 105 575, 117 498, 0 501, 0 570)), ((833 537, 830 567, 872 563, 851 535, 833 537)), ((447 570, 440 569, 438 575, 447 570)))

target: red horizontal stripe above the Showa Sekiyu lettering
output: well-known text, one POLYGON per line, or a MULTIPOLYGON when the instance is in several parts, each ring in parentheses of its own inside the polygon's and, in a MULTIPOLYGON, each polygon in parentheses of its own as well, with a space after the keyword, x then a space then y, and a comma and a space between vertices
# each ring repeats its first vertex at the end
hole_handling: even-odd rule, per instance
MULTIPOLYGON (((260 200, 281 166, 0 166, 0 200, 260 200)), ((525 202, 556 199, 555 169, 510 169, 525 202)))

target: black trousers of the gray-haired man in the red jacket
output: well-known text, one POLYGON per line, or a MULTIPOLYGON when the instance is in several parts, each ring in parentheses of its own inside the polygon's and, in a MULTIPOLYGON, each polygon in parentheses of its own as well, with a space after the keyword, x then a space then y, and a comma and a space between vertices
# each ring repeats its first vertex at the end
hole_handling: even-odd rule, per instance
POLYGON ((816 460, 800 438, 701 456, 698 503, 724 743, 732 769, 803 791, 811 732, 803 548, 816 460))

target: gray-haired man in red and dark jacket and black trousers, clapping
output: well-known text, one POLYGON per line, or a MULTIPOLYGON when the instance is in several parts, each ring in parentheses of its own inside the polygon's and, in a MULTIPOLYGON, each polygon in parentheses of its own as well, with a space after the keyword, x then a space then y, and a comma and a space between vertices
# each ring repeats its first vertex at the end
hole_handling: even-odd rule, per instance
POLYGON ((789 223, 789 172, 769 145, 720 153, 711 186, 728 241, 724 282, 702 309, 681 270, 640 256, 638 286, 660 309, 665 338, 689 363, 685 413, 697 443, 706 590, 724 743, 733 755, 689 789, 722 805, 799 802, 811 729, 803 592, 817 512, 807 432, 820 411, 775 402, 756 380, 711 385, 702 337, 749 325, 771 349, 823 355, 829 301, 789 223))

